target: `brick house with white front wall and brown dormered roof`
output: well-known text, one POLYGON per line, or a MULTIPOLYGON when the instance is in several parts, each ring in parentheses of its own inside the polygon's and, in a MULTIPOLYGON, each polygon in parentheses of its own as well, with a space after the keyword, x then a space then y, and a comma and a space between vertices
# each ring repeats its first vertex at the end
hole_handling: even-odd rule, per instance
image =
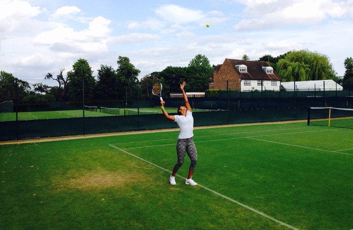
POLYGON ((281 78, 266 61, 246 61, 226 58, 218 64, 208 81, 209 89, 238 91, 280 90, 281 78))

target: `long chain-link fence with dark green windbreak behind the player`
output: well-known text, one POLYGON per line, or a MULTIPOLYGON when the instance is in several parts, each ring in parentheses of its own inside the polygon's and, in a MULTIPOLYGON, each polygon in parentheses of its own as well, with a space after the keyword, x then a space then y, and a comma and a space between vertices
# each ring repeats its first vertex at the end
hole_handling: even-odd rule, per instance
MULTIPOLYGON (((83 81, 76 98, 70 97, 73 89, 53 79, 0 86, 0 141, 177 127, 161 114, 159 97, 140 98, 138 84, 113 92, 110 100, 97 100, 83 81), (114 98, 118 93, 123 97, 114 98)), ((350 95, 350 90, 239 92, 229 88, 219 90, 216 97, 191 97, 189 102, 195 125, 203 126, 306 119, 307 107, 351 107, 350 95)), ((163 98, 171 114, 184 103, 183 98, 163 98)))

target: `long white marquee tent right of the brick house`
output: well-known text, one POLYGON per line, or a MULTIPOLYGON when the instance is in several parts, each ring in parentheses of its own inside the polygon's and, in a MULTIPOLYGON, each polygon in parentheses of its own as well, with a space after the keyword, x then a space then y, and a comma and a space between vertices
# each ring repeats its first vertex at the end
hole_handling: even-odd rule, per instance
MULTIPOLYGON (((294 91, 294 81, 282 82, 281 85, 287 91, 294 91)), ((296 81, 295 87, 297 91, 323 91, 324 87, 325 91, 343 90, 334 80, 296 81)))

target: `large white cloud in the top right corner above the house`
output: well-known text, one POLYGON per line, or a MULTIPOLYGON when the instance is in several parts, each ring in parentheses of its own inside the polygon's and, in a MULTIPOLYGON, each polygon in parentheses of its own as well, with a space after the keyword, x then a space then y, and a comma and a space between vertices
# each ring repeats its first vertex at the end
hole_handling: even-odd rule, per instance
MULTIPOLYGON (((243 2, 243 1, 241 1, 243 2)), ((269 29, 281 26, 318 25, 328 17, 353 15, 353 1, 296 0, 245 1, 243 18, 234 26, 236 30, 269 29)))

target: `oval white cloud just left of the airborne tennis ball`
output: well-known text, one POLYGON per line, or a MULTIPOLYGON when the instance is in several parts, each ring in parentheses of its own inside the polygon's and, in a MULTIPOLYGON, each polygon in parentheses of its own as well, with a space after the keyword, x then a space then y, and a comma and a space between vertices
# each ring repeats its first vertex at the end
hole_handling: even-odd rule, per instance
POLYGON ((174 24, 185 24, 198 21, 206 17, 201 10, 190 10, 177 5, 165 5, 155 10, 156 14, 164 20, 174 24))

